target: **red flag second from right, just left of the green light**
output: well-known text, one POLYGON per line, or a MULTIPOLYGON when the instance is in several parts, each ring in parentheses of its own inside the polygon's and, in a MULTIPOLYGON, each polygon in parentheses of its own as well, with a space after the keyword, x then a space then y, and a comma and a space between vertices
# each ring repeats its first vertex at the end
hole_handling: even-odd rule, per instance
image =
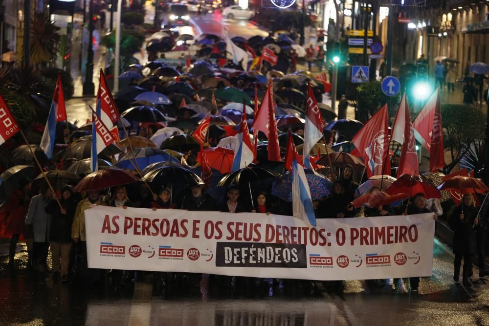
POLYGON ((391 131, 391 140, 402 144, 397 177, 399 178, 402 174, 418 175, 420 173, 418 153, 416 152, 414 127, 411 122, 411 115, 409 114, 406 93, 404 93, 400 101, 394 126, 391 131))

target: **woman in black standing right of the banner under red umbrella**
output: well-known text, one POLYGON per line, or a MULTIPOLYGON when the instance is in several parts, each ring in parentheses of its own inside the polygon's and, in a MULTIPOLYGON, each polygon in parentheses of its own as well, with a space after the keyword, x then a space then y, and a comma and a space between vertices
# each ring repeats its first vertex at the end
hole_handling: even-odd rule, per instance
POLYGON ((477 224, 479 224, 479 219, 477 218, 474 198, 471 194, 465 194, 460 206, 452 213, 450 226, 453 228, 453 253, 455 254, 453 280, 456 283, 460 281, 460 265, 463 258, 462 279, 466 286, 471 286, 469 277, 472 275, 472 256, 477 251, 477 236, 474 225, 477 224))

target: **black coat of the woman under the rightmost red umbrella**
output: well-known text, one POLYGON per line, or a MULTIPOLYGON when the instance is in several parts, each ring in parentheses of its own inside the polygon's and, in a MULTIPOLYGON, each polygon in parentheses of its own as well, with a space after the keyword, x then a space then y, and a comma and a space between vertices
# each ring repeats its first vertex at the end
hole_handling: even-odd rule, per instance
POLYGON ((464 219, 460 219, 462 204, 457 207, 450 218, 450 226, 453 229, 453 253, 475 254, 477 251, 477 235, 474 228, 474 220, 478 210, 475 207, 464 207, 464 219))

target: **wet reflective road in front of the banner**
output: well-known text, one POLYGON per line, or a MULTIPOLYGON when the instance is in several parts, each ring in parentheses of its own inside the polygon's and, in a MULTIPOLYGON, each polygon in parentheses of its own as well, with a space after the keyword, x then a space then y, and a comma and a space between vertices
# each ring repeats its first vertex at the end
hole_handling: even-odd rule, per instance
POLYGON ((392 290, 364 281, 324 287, 238 279, 226 286, 222 278, 198 277, 162 285, 156 273, 114 286, 107 271, 96 285, 60 284, 27 272, 25 251, 16 258, 15 272, 0 258, 2 325, 489 325, 489 280, 477 280, 474 268, 472 288, 453 283, 453 255, 438 241, 433 275, 422 279, 418 295, 406 284, 392 290))

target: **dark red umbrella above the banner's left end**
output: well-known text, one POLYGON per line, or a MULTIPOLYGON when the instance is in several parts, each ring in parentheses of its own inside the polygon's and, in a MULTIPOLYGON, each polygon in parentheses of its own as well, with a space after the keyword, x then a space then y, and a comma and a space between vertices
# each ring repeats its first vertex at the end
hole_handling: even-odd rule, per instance
POLYGON ((84 177, 76 187, 75 191, 91 191, 102 190, 110 187, 116 187, 127 183, 137 182, 137 179, 133 174, 126 172, 122 169, 104 169, 90 173, 84 177))

